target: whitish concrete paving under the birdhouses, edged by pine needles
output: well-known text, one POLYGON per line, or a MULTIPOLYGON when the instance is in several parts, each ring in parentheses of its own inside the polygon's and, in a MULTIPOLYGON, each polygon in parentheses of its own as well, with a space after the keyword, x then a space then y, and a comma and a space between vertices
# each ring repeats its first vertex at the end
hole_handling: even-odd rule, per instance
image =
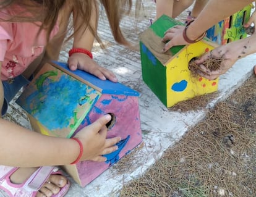
MULTIPOLYGON (((151 0, 143 1, 145 11, 140 14, 137 22, 134 15, 126 17, 122 22, 122 29, 127 38, 134 44, 138 44, 139 34, 148 27, 148 19, 155 15, 155 4, 151 0), (137 23, 137 25, 136 25, 137 23)), ((187 13, 184 12, 186 17, 187 13)), ((102 40, 108 46, 107 51, 98 49, 95 45, 93 56, 98 64, 113 70, 119 78, 119 82, 139 91, 139 107, 141 127, 143 131, 143 144, 135 149, 127 164, 122 164, 124 169, 118 169, 116 165, 106 170, 100 177, 96 178, 85 188, 79 187, 74 181, 70 187, 67 197, 111 197, 118 196, 119 191, 125 183, 142 175, 154 162, 161 157, 164 150, 179 141, 187 130, 202 120, 207 109, 202 111, 169 111, 156 98, 145 83, 142 81, 140 65, 140 52, 130 50, 117 45, 107 25, 105 17, 101 17, 99 32, 102 40), (121 172, 120 172, 121 171, 121 172)), ((138 46, 138 45, 137 45, 138 46)), ((61 53, 60 61, 66 61, 67 51, 71 48, 67 44, 61 53)), ((256 64, 256 55, 241 59, 236 62, 229 72, 220 77, 219 96, 209 103, 213 107, 218 101, 226 99, 237 87, 239 87, 252 73, 252 67, 256 64)), ((24 127, 30 127, 25 115, 20 111, 19 106, 12 103, 9 114, 15 115, 12 121, 18 121, 24 127)), ((122 159, 121 161, 122 162, 122 159)))

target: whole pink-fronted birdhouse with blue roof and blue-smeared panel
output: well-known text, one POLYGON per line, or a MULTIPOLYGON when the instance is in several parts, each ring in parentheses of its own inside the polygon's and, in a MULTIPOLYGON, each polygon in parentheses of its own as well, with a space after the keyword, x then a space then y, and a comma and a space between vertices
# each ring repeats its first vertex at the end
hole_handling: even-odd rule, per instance
POLYGON ((106 162, 82 161, 64 166, 85 187, 142 141, 139 93, 121 83, 103 81, 67 64, 45 64, 17 99, 36 132, 70 138, 99 117, 110 114, 107 138, 121 136, 106 162))

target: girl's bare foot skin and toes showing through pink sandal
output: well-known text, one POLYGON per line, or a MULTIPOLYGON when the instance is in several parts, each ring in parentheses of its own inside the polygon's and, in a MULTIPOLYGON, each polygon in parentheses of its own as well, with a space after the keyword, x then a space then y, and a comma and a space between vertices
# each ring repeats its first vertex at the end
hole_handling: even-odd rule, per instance
MULTIPOLYGON (((25 182, 37 168, 19 168, 14 174, 11 175, 10 179, 12 183, 20 184, 25 182)), ((57 194, 62 187, 67 184, 67 178, 62 175, 53 174, 50 175, 45 184, 40 188, 36 197, 50 197, 57 194)))

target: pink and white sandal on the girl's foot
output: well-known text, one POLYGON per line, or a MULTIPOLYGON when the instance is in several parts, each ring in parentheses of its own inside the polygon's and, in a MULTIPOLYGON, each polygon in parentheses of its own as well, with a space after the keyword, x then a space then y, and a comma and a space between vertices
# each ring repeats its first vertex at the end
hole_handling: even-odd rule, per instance
MULTIPOLYGON (((11 183, 10 176, 17 170, 17 167, 0 166, 0 188, 10 197, 35 197, 37 191, 43 186, 51 174, 62 174, 54 166, 43 166, 36 170, 27 181, 22 184, 11 183)), ((70 183, 61 188, 58 194, 52 197, 62 197, 69 190, 70 183)))

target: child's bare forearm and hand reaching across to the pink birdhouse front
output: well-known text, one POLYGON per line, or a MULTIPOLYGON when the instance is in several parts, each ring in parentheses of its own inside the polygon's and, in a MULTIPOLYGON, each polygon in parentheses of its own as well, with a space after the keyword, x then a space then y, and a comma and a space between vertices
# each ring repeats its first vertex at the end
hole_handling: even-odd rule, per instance
MULTIPOLYGON (((1 69, 2 62, 0 62, 1 69)), ((1 76, 0 76, 1 80, 1 76)), ((4 99, 0 82, 0 109, 4 99)), ((105 115, 83 128, 75 136, 82 141, 83 156, 80 160, 106 161, 103 154, 117 149, 119 137, 106 139, 106 124, 111 119, 105 115)), ((0 114, 0 165, 16 167, 61 166, 77 159, 78 143, 67 138, 56 138, 32 132, 1 118, 0 114)))

